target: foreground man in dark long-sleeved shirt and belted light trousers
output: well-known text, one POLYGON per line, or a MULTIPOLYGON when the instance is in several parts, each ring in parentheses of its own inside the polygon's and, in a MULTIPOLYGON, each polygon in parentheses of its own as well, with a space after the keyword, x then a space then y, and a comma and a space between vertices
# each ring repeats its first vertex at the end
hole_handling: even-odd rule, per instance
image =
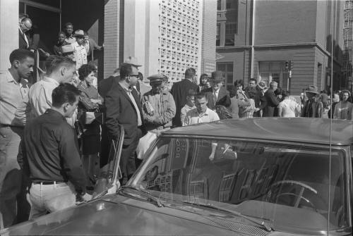
POLYGON ((85 200, 85 171, 77 137, 65 118, 75 113, 80 90, 62 84, 52 92, 52 107, 25 128, 25 164, 30 187, 30 219, 76 204, 76 194, 85 200))

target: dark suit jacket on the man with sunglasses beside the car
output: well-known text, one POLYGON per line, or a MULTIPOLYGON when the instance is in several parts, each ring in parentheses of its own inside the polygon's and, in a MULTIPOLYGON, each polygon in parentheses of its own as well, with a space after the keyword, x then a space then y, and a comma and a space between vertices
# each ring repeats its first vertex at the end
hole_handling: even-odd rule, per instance
MULTIPOLYGON (((140 99, 138 99, 136 89, 133 89, 132 94, 138 106, 141 121, 143 122, 141 103, 140 99)), ((107 109, 106 125, 109 137, 113 139, 119 137, 120 124, 125 130, 124 145, 131 144, 133 140, 136 140, 136 135, 138 135, 138 115, 133 106, 133 102, 128 97, 128 94, 126 94, 124 88, 119 85, 117 80, 114 80, 112 89, 110 89, 105 97, 104 105, 107 109)))

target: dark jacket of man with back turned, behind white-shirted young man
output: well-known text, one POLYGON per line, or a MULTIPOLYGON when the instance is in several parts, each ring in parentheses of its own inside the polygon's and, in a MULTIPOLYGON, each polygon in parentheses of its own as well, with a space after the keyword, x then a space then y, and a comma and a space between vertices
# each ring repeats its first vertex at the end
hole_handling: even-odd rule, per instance
POLYGON ((198 85, 188 79, 184 79, 174 83, 172 89, 170 90, 170 93, 173 95, 175 101, 175 107, 177 109, 173 118, 173 125, 175 127, 181 126, 180 111, 181 108, 183 108, 186 104, 186 96, 189 93, 189 89, 193 89, 195 92, 198 92, 198 85))

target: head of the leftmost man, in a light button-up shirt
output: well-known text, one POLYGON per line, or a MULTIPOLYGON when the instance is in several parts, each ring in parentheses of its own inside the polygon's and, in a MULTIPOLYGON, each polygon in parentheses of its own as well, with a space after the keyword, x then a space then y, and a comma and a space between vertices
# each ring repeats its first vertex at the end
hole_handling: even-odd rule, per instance
POLYGON ((33 72, 35 54, 26 49, 16 49, 10 54, 11 69, 16 70, 18 77, 27 79, 33 72))

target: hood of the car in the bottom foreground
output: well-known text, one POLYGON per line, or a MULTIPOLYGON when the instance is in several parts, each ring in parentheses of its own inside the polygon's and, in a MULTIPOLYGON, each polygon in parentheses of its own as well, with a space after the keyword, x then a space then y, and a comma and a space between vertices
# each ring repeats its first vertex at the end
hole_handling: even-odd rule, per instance
POLYGON ((108 195, 56 211, 0 232, 0 235, 244 235, 197 213, 157 207, 108 195))

